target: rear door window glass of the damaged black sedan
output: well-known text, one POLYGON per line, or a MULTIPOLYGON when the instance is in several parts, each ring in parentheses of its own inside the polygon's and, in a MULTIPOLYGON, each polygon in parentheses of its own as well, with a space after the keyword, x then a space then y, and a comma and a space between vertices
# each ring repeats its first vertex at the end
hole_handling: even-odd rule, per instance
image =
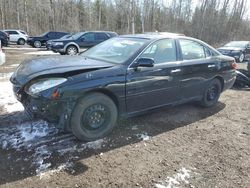
POLYGON ((192 40, 180 39, 183 60, 206 58, 204 47, 192 40))

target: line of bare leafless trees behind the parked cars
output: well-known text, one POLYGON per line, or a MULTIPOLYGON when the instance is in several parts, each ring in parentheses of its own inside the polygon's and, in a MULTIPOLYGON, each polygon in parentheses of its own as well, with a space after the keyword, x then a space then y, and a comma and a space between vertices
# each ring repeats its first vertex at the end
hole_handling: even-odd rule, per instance
POLYGON ((250 40, 247 0, 0 0, 0 29, 167 31, 210 44, 250 40))

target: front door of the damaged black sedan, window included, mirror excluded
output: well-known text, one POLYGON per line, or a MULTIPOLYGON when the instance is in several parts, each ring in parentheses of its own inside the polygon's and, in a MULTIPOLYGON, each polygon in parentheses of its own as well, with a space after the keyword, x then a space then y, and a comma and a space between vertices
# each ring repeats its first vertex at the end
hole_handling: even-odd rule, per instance
MULTIPOLYGON (((152 58, 154 67, 129 68, 126 80, 128 113, 164 106, 179 100, 180 63, 175 40, 151 44, 139 58, 152 58)), ((139 59, 138 58, 138 59, 139 59)))

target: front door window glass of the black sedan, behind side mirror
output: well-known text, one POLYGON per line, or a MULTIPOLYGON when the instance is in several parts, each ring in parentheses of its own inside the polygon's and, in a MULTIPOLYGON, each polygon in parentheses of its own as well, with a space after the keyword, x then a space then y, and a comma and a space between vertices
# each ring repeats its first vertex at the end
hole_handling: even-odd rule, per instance
POLYGON ((163 39, 150 45, 142 58, 152 58, 156 64, 176 61, 176 47, 172 39, 163 39))

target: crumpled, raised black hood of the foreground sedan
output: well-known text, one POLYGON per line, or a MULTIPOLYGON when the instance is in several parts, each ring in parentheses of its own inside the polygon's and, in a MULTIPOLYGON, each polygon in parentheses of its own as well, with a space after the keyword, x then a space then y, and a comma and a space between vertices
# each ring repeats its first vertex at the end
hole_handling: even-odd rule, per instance
POLYGON ((11 77, 11 82, 24 85, 35 77, 60 74, 78 70, 92 70, 112 67, 114 64, 87 59, 83 56, 53 56, 26 60, 20 64, 11 77))

